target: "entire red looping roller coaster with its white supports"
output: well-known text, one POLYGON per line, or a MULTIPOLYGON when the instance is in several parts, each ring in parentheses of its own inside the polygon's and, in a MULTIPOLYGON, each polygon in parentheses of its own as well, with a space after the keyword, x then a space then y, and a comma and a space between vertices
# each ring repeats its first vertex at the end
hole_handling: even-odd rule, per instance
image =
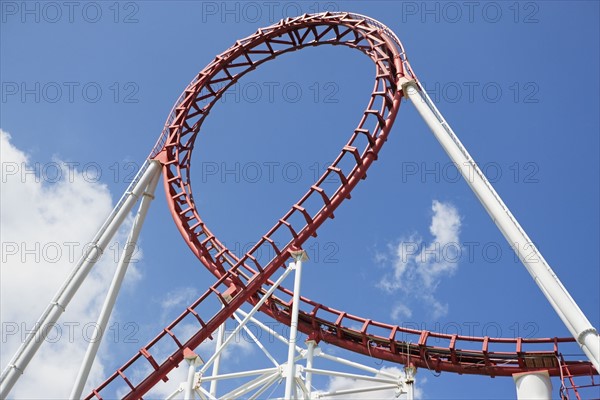
MULTIPOLYGON (((214 275, 215 282, 84 398, 106 399, 119 393, 124 399, 140 399, 156 384, 166 380, 167 374, 185 360, 190 365, 190 373, 180 391, 186 392, 186 398, 243 397, 253 391, 255 397, 250 398, 259 398, 269 385, 282 380, 286 381, 286 399, 326 397, 311 388, 311 376, 322 372, 312 365, 321 342, 406 366, 402 379, 394 381, 393 377, 387 376, 379 383, 383 385, 381 388, 396 385, 399 394, 407 393, 409 397, 412 396, 415 369, 490 377, 543 372, 547 376, 561 377, 564 398, 569 394, 580 398, 575 377, 589 377, 591 385, 597 385, 594 379, 600 369, 598 333, 535 246, 516 246, 516 251, 572 337, 473 337, 408 329, 375 321, 369 316, 351 315, 301 296, 300 274, 306 260, 303 244, 316 236, 319 227, 334 217, 334 211, 366 178, 367 170, 377 160, 388 139, 402 100, 412 101, 462 175, 474 177, 467 179, 469 185, 509 243, 531 243, 419 83, 400 40, 389 28, 369 17, 345 12, 287 18, 236 41, 194 77, 174 105, 145 164, 94 238, 95 245, 82 257, 40 318, 38 326, 58 320, 97 256, 141 199, 128 243, 137 241, 162 174, 175 224, 193 254, 214 275), (375 82, 367 107, 356 128, 350 132, 347 143, 323 175, 247 253, 238 256, 211 232, 194 202, 190 172, 196 137, 212 107, 247 73, 283 54, 324 45, 356 49, 373 61, 375 82), (325 181, 335 181, 335 190, 325 187, 325 181), (262 262, 258 256, 265 248, 274 255, 268 262, 262 262), (294 290, 281 285, 292 272, 296 275, 294 290), (240 314, 244 304, 252 307, 252 311, 240 314), (259 323, 253 319, 256 312, 290 326, 290 337, 282 338, 289 346, 288 359, 281 365, 276 364, 279 368, 260 371, 256 380, 243 385, 237 392, 221 397, 216 393, 214 382, 217 381, 220 352, 227 344, 222 327, 232 318, 238 319, 239 329, 251 320, 259 323), (184 332, 181 326, 190 322, 195 324, 194 332, 184 332), (308 349, 298 347, 298 332, 308 337, 308 349), (200 368, 201 364, 194 361, 198 359, 194 351, 215 337, 219 339, 215 355, 200 368), (561 349, 569 343, 577 343, 587 359, 565 360, 561 349), (158 348, 171 350, 165 353, 157 351, 158 348), (210 365, 214 368, 212 378, 207 374, 210 365), (133 377, 132 371, 136 370, 149 372, 139 379, 133 377), (211 389, 203 388, 204 383, 210 384, 211 389)), ((106 326, 131 251, 126 249, 120 262, 99 319, 100 326, 106 326)), ((43 342, 39 340, 43 335, 41 330, 33 332, 18 350, 2 374, 0 397, 7 398, 43 342)), ((82 396, 97 346, 91 344, 88 349, 72 398, 82 396)))

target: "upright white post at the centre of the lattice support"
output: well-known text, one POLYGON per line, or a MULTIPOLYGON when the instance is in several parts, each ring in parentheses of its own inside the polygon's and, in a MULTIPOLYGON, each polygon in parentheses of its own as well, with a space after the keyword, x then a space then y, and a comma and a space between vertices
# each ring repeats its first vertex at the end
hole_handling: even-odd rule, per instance
POLYGON ((300 283, 302 281, 302 261, 308 259, 304 250, 292 252, 294 263, 291 267, 295 270, 294 274, 294 296, 292 297, 292 315, 290 322, 290 340, 288 345, 288 361, 286 365, 285 379, 285 399, 295 398, 296 391, 296 363, 294 361, 296 354, 296 341, 298 339, 298 306, 300 303, 300 283), (292 394, 294 393, 294 394, 292 394))

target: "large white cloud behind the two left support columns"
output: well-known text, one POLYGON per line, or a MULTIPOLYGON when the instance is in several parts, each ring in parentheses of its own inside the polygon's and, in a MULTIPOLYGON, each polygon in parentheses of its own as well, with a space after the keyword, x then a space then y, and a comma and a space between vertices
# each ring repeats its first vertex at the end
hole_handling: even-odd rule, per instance
MULTIPOLYGON (((0 141, 0 364, 4 368, 109 214, 112 199, 105 185, 74 169, 63 169, 69 173, 61 179, 55 179, 56 174, 40 176, 41 164, 16 148, 8 133, 0 130, 0 141), (36 169, 37 175, 32 172, 36 169)), ((56 171, 61 165, 53 161, 51 168, 56 171)), ((117 240, 123 243, 124 239, 122 232, 113 239, 113 247, 105 251, 58 324, 47 327, 46 342, 11 398, 67 398, 112 278, 117 248, 122 249, 117 240)), ((127 279, 137 276, 132 264, 127 279)), ((109 357, 104 353, 96 360, 90 381, 98 382, 105 375, 109 357)))

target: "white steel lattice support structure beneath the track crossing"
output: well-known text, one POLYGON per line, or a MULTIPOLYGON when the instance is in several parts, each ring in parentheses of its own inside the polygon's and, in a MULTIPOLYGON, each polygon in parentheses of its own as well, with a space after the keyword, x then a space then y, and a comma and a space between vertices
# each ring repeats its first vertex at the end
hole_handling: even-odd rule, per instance
MULTIPOLYGON (((294 307, 293 304, 291 308, 292 323, 290 324, 289 337, 287 338, 273 329, 273 327, 270 327, 255 318, 257 311, 291 272, 295 272, 293 301, 298 301, 300 297, 302 262, 307 260, 307 258, 304 251, 294 252, 293 257, 295 261, 290 263, 288 268, 281 276, 279 276, 269 290, 261 297, 260 301, 249 312, 238 309, 233 314, 234 320, 237 321, 237 326, 233 330, 227 332, 228 335, 225 339, 220 339, 221 343, 219 343, 219 336, 217 336, 217 345, 206 363, 193 364, 190 360, 200 359, 200 356, 192 351, 188 352, 190 357, 188 360, 189 372, 187 380, 182 382, 179 387, 167 397, 168 400, 178 398, 183 398, 185 400, 217 400, 232 398, 307 400, 344 398, 343 396, 382 391, 387 391, 386 393, 388 394, 392 392, 397 398, 401 395, 405 395, 403 398, 413 400, 416 368, 412 366, 407 366, 404 373, 401 373, 399 370, 398 373, 392 373, 390 371, 376 369, 342 357, 327 354, 318 346, 315 340, 310 338, 305 341, 306 346, 302 347, 298 343, 298 331, 294 328, 294 321, 296 321, 297 326, 298 308, 294 307), (277 356, 260 341, 259 337, 262 335, 257 334, 256 331, 250 329, 249 324, 260 329, 260 331, 265 333, 268 338, 280 342, 283 347, 287 349, 287 361, 279 363, 277 361, 277 356), (271 364, 271 366, 228 373, 220 373, 218 368, 214 368, 228 346, 234 345, 236 339, 240 338, 240 332, 245 332, 246 339, 260 349, 266 360, 268 360, 267 363, 271 364), (318 359, 323 360, 330 365, 337 365, 338 369, 316 368, 315 361, 318 359), (201 365, 201 367, 196 368, 198 365, 201 365), (211 365, 213 366, 212 374, 208 374, 211 365), (349 372, 349 370, 352 370, 352 372, 349 372), (192 373, 192 371, 194 372, 192 373), (345 378, 346 380, 356 382, 356 384, 354 387, 343 389, 330 388, 329 390, 316 390, 313 386, 313 376, 315 375, 329 378, 345 378), (241 379, 248 379, 248 381, 239 384, 239 380, 241 379), (229 384, 223 393, 217 393, 217 382, 229 384), (236 383, 232 384, 231 382, 236 383), (284 392, 280 393, 280 395, 276 395, 275 392, 277 389, 279 388, 279 390, 281 390, 281 384, 284 384, 285 386, 284 392), (207 390, 207 387, 209 390, 207 390), (267 397, 263 397, 267 392, 267 397), (193 394, 190 395, 190 393, 193 394), (183 397, 181 397, 182 394, 183 397)), ((219 328, 219 331, 225 332, 225 326, 222 325, 219 328)), ((272 345, 273 343, 270 342, 270 344, 272 345)))

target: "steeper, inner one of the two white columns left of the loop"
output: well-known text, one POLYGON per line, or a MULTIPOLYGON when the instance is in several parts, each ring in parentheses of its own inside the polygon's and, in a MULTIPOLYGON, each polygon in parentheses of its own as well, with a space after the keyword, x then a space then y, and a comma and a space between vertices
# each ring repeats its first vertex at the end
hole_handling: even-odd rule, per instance
POLYGON ((143 193, 142 200, 140 202, 140 207, 133 222, 133 226, 131 227, 129 237, 127 238, 123 254, 121 255, 121 259, 119 260, 119 265, 117 266, 115 275, 108 289, 106 299, 104 301, 104 304, 102 305, 102 310, 100 311, 100 315, 98 316, 98 321, 96 322, 96 335, 94 339, 88 344, 88 348, 83 358, 81 368, 75 380, 75 385, 73 385, 73 390, 71 391, 70 396, 70 399, 72 400, 80 399, 81 394, 83 393, 83 388, 85 386, 85 383, 87 382, 94 360, 96 359, 96 354, 98 353, 100 343, 102 342, 103 334, 106 331, 108 320, 110 319, 110 315, 115 306, 115 302, 117 301, 117 296, 119 295, 121 284, 123 283, 123 279, 125 278, 127 267, 129 266, 129 262, 131 261, 131 257, 133 256, 133 252, 137 246, 137 241, 140 236, 142 226, 144 225, 146 214, 148 213, 148 209, 150 208, 150 203, 154 199, 154 191, 156 190, 156 185, 158 184, 159 178, 160 174, 156 173, 143 193))

